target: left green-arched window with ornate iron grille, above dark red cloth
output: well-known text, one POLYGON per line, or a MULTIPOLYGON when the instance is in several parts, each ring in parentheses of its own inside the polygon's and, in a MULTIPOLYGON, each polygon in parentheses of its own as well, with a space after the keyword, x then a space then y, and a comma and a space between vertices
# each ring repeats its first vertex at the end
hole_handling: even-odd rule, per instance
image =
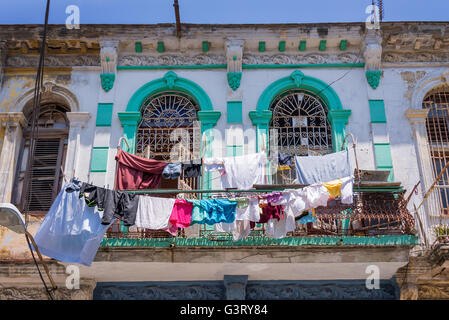
MULTIPOLYGON (((199 157, 200 110, 195 100, 181 92, 167 91, 148 97, 141 107, 142 121, 137 129, 136 154, 167 162, 194 160, 199 157)), ((196 187, 196 179, 180 184, 163 179, 162 188, 196 187)))

